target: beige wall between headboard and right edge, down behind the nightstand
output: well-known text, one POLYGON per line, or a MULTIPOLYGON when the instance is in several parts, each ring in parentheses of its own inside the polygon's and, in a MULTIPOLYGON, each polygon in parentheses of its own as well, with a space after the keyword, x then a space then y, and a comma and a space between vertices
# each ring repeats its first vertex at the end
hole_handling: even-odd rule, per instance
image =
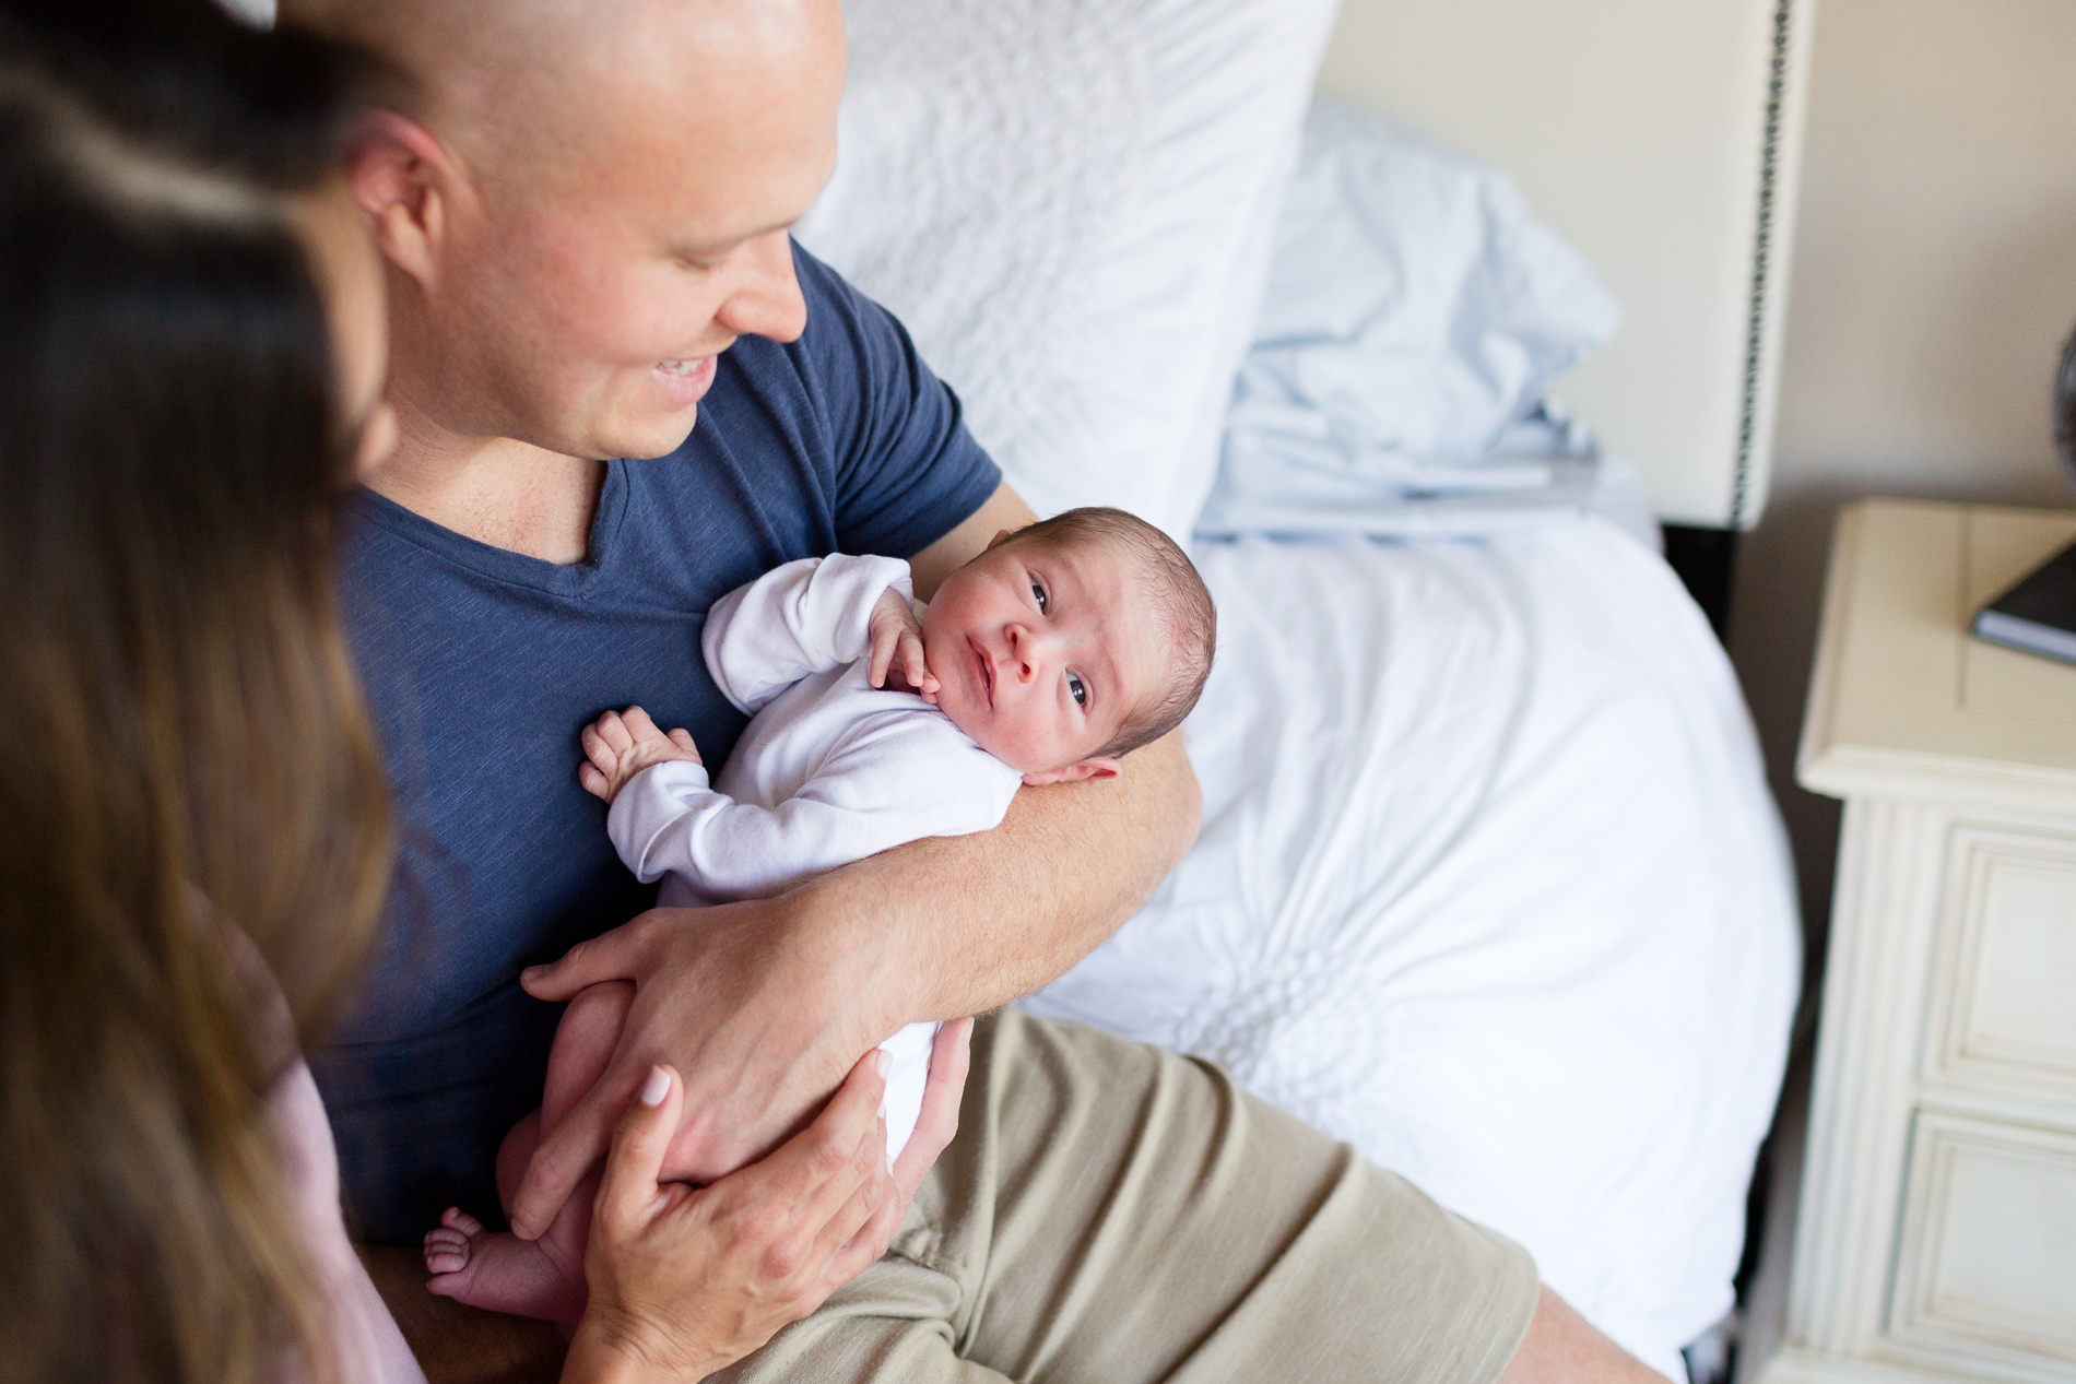
POLYGON ((1837 504, 2076 504, 2047 392, 2076 324, 2076 0, 1816 0, 1773 502, 1731 656, 1823 917, 1837 811, 1792 788, 1837 504))

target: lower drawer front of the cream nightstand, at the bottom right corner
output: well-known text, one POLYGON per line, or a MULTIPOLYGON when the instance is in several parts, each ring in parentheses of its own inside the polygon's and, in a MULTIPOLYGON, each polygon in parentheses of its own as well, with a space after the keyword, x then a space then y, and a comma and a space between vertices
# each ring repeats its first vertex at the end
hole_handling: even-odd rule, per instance
POLYGON ((1920 1110, 1889 1340, 2014 1380, 2076 1365, 2076 1135, 1920 1110))

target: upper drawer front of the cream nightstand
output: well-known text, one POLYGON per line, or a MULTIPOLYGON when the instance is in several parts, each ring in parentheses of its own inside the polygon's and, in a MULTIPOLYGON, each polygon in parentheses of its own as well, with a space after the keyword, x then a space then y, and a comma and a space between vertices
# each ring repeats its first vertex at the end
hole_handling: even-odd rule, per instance
POLYGON ((1939 932, 1929 1075, 2076 1096, 2076 834, 1956 824, 1939 932))

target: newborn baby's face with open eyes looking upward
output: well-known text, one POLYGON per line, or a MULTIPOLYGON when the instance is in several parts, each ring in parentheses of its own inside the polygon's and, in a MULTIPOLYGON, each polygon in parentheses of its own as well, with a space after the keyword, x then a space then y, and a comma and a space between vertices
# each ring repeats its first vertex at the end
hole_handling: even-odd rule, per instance
POLYGON ((1160 676, 1160 631, 1138 589, 1107 544, 996 539, 924 612, 936 703, 1032 780, 1088 762, 1160 676))

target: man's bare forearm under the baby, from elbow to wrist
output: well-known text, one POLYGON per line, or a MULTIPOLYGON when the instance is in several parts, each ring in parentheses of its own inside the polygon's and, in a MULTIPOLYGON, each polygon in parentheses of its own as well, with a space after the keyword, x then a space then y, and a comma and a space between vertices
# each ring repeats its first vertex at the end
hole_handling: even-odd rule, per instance
POLYGON ((1113 780, 1021 788, 992 832, 938 836, 801 888, 872 994, 905 1019, 976 1015, 1065 973, 1131 917, 1196 840, 1181 732, 1113 780))

